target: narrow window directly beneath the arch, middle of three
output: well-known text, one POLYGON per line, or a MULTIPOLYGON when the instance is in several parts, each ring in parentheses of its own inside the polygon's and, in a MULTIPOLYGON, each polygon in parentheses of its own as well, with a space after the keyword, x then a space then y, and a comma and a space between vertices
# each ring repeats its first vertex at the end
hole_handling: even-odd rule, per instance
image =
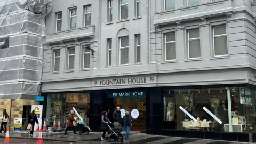
POLYGON ((120 65, 126 65, 129 63, 129 37, 119 38, 119 43, 120 65))

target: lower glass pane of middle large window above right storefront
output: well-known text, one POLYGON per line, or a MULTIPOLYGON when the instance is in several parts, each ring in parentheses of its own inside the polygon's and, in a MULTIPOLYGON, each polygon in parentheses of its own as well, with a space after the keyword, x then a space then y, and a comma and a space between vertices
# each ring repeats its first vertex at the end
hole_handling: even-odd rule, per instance
POLYGON ((189 41, 189 58, 200 58, 200 39, 189 41))

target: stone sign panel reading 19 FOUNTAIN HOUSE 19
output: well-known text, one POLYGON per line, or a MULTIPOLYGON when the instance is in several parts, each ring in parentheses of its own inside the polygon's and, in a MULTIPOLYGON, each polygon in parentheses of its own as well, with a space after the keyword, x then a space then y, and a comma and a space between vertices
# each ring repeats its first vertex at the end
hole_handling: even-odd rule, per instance
POLYGON ((156 83, 155 76, 100 79, 98 81, 92 81, 93 86, 137 85, 137 84, 154 84, 154 83, 156 83))

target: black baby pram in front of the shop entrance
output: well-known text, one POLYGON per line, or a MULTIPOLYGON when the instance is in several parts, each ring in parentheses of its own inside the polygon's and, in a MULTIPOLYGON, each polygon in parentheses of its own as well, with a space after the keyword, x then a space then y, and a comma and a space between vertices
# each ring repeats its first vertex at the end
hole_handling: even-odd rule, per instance
POLYGON ((109 137, 107 137, 107 141, 110 141, 111 139, 114 139, 115 142, 118 142, 119 140, 121 142, 124 141, 124 137, 121 134, 121 132, 122 132, 122 125, 120 123, 115 122, 114 123, 114 129, 112 129, 109 125, 108 125, 108 128, 109 128, 109 130, 111 132, 111 135, 109 137))

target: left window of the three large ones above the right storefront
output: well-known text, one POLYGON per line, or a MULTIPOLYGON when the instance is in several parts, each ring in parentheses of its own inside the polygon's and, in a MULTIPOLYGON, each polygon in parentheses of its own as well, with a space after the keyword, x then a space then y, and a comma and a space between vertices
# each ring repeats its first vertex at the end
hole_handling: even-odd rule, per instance
POLYGON ((165 60, 176 59, 176 37, 175 32, 165 34, 165 60))

